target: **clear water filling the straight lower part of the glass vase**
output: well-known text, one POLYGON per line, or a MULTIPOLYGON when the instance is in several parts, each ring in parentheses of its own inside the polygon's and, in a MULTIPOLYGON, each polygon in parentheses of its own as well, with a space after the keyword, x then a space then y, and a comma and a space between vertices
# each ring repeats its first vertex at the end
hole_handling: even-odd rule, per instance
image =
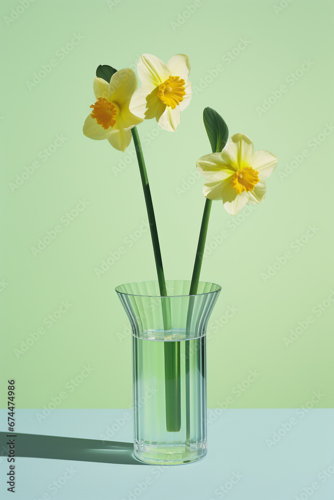
POLYGON ((132 342, 136 456, 149 463, 198 460, 207 449, 205 335, 180 341, 133 336, 132 342))

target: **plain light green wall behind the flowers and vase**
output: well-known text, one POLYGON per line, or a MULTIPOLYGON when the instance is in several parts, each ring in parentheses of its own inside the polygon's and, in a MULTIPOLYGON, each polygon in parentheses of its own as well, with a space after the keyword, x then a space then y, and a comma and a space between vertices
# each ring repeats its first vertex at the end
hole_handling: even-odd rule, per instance
POLYGON ((244 132, 255 149, 279 158, 264 203, 235 216, 219 201, 212 205, 201 277, 222 292, 208 328, 208 406, 232 396, 234 408, 298 407, 315 391, 308 405, 331 407, 334 133, 321 135, 333 119, 331 2, 36 0, 23 11, 20 5, 1 7, 0 109, 1 364, 5 385, 16 379, 18 407, 131 405, 131 335, 114 287, 155 279, 145 204, 133 143, 122 153, 107 140, 84 137, 82 125, 95 100, 97 65, 135 68, 144 52, 165 61, 188 53, 192 65, 194 94, 177 132, 159 129, 155 120, 138 127, 166 278, 189 279, 192 272, 204 206, 195 162, 210 152, 203 108, 217 109, 230 135, 244 132), (238 49, 240 39, 246 41, 238 49), (308 67, 298 71, 304 59, 308 67), (34 83, 42 65, 50 71, 34 83), (54 147, 57 134, 66 140, 54 147), (36 160, 39 168, 13 188, 36 160), (86 206, 71 220, 66 214, 78 200, 86 206), (57 225, 61 232, 34 255, 32 247, 57 225), (309 225, 312 235, 305 235, 309 225), (137 239, 131 246, 130 234, 137 239), (125 253, 97 276, 120 246, 125 253), (48 326, 45 318, 62 301, 71 306, 48 326), (287 343, 298 326, 300 334, 287 343), (41 327, 44 333, 18 354, 41 327), (84 366, 91 367, 87 376, 84 366), (259 374, 251 383, 250 370, 259 374))

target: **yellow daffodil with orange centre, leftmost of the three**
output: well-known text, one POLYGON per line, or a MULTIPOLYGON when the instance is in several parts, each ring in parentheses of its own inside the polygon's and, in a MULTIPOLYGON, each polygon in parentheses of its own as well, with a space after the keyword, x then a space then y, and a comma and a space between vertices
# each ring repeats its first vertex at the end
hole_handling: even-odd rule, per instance
POLYGON ((137 85, 137 76, 130 68, 116 71, 110 83, 103 78, 95 78, 96 102, 90 106, 93 111, 85 120, 84 134, 91 139, 108 139, 113 147, 125 151, 131 142, 130 129, 143 121, 129 110, 137 85))

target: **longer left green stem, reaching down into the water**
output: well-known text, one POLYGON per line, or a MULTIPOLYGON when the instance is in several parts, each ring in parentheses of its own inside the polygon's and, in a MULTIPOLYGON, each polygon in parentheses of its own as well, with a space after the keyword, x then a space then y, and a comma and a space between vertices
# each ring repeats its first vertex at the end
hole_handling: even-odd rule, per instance
MULTIPOLYGON (((140 177, 142 180, 147 215, 150 225, 155 265, 157 268, 160 295, 167 297, 165 275, 155 221, 152 196, 137 127, 131 129, 136 148, 140 177)), ((171 329, 170 301, 162 298, 162 314, 164 330, 171 329)), ((164 342, 165 361, 165 395, 166 395, 166 429, 168 432, 178 432, 181 428, 181 373, 180 373, 180 342, 164 342)))

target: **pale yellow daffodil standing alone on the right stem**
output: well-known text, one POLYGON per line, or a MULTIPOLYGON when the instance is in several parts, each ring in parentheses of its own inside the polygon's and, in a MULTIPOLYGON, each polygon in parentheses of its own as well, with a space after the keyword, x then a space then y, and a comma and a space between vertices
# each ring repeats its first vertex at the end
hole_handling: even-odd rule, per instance
POLYGON ((261 203, 265 198, 266 177, 277 165, 278 158, 269 151, 254 151, 247 135, 236 133, 221 152, 202 156, 197 169, 207 178, 203 194, 209 199, 222 199, 226 210, 235 214, 247 203, 261 203))

